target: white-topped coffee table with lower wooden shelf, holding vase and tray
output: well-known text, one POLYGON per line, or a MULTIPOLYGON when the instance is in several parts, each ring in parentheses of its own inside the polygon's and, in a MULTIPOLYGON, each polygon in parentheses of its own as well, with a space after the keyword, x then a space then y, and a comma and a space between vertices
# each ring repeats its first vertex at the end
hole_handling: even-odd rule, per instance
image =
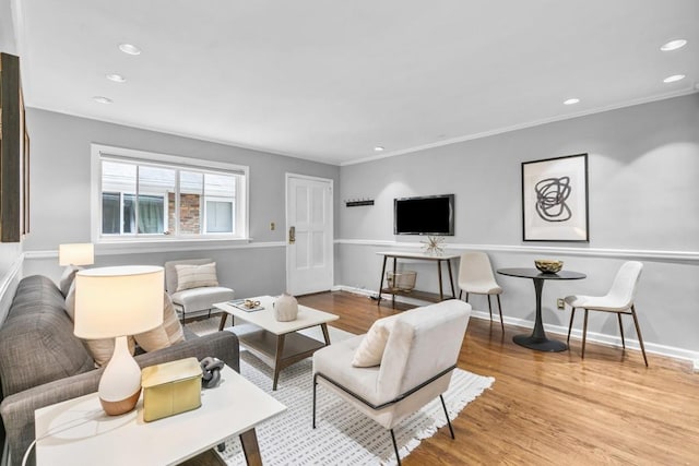
POLYGON ((220 328, 223 328, 227 314, 233 315, 233 331, 238 335, 240 345, 274 370, 272 381, 272 390, 274 391, 282 369, 306 359, 323 346, 330 345, 327 324, 339 318, 329 312, 299 306, 296 320, 277 322, 272 307, 276 298, 259 296, 250 299, 260 301, 260 306, 264 309, 249 312, 228 302, 215 303, 215 308, 225 312, 221 316, 220 328), (236 318, 247 322, 247 324, 236 325, 236 318), (312 326, 320 326, 323 332, 324 343, 298 333, 299 330, 312 326))

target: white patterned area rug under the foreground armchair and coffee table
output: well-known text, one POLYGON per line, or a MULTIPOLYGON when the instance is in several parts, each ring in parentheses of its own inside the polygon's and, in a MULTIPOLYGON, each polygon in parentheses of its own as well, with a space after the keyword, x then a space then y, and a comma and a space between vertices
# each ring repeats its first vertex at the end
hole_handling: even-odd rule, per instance
MULTIPOLYGON (((352 336, 332 326, 329 328, 331 342, 352 336)), ((316 332, 315 328, 304 333, 322 339, 320 331, 316 332)), ((286 411, 256 429, 265 465, 396 464, 390 433, 322 386, 317 392, 317 428, 311 428, 310 358, 284 369, 276 392, 272 392, 272 369, 246 350, 240 351, 240 373, 287 407, 286 411)), ((494 378, 457 369, 443 395, 449 417, 453 420, 469 402, 489 389, 493 382, 494 378)), ((420 440, 434 435, 437 429, 446 425, 439 398, 403 420, 394 429, 401 457, 407 456, 420 440)), ((440 434, 449 435, 449 432, 440 434)), ((246 464, 237 437, 226 440, 226 450, 221 455, 228 465, 246 464)))

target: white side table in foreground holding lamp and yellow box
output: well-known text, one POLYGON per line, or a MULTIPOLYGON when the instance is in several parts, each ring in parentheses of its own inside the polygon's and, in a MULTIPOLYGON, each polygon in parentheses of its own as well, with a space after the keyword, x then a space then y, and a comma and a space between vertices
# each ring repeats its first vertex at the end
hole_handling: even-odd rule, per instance
POLYGON ((261 464, 254 426, 286 410, 228 367, 198 409, 144 422, 142 399, 122 416, 107 416, 96 393, 37 409, 36 464, 175 465, 236 434, 248 464, 261 464))

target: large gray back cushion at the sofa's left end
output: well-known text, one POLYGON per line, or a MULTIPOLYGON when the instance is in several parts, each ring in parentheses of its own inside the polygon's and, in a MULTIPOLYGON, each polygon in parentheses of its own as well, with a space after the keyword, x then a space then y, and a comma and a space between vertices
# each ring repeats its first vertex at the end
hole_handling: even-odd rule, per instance
POLYGON ((62 301, 47 277, 29 276, 17 285, 0 327, 3 396, 94 369, 92 357, 73 335, 62 301))

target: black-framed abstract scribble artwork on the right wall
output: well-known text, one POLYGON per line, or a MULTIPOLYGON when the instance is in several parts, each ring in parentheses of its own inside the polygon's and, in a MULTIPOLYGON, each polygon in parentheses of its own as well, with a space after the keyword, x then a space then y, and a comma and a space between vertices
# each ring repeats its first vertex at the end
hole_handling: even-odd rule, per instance
POLYGON ((588 154, 522 163, 522 240, 590 242, 588 154))

